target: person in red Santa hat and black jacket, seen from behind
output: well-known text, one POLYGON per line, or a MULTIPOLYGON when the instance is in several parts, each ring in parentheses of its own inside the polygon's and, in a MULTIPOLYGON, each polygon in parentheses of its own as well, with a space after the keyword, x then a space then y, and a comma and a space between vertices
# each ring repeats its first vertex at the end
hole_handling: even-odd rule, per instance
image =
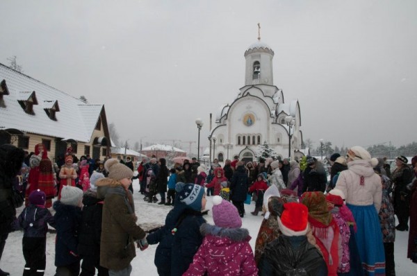
POLYGON ((327 275, 325 260, 307 240, 308 216, 301 203, 284 204, 281 217, 277 217, 282 234, 266 246, 259 275, 327 275))

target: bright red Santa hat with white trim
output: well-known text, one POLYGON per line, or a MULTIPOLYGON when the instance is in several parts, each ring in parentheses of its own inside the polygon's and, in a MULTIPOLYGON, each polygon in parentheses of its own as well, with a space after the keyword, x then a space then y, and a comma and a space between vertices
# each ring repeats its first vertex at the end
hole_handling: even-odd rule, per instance
POLYGON ((297 202, 284 204, 284 212, 277 217, 279 229, 284 236, 303 236, 307 233, 309 209, 297 202))

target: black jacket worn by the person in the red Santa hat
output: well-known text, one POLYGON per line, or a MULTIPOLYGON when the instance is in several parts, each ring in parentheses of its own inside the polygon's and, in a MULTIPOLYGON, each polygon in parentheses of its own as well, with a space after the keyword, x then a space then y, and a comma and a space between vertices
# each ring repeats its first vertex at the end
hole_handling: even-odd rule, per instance
POLYGON ((327 275, 325 260, 306 236, 281 235, 268 243, 258 268, 261 276, 327 275))

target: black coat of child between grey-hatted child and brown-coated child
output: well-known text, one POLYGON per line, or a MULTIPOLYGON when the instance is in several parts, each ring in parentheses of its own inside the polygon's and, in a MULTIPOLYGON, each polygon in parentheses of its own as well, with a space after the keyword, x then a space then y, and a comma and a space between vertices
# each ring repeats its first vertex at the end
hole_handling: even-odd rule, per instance
POLYGON ((101 218, 103 216, 103 200, 88 190, 83 196, 83 212, 79 231, 79 255, 100 257, 101 218))

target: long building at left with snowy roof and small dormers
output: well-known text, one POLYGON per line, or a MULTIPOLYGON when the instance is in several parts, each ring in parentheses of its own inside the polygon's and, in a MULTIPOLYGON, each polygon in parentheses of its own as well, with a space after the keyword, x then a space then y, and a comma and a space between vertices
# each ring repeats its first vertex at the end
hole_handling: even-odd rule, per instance
POLYGON ((42 143, 52 159, 72 146, 77 157, 110 155, 103 104, 90 104, 0 64, 0 145, 34 151, 42 143))

